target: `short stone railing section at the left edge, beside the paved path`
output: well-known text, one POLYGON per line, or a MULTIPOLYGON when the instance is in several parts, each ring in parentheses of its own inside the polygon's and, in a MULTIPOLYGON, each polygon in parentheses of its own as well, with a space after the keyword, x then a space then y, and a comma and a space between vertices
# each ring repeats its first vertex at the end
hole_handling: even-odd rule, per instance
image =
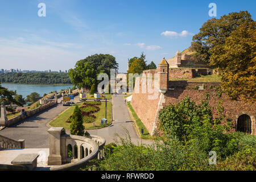
POLYGON ((25 140, 13 140, 0 135, 0 150, 11 148, 25 148, 25 140))

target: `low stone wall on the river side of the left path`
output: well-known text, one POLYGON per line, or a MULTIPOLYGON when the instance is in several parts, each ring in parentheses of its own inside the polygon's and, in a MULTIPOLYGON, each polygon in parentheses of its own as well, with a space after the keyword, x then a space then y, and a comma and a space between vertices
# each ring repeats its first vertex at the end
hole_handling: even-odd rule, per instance
MULTIPOLYGON (((36 114, 36 113, 39 113, 40 111, 43 111, 43 110, 46 110, 48 109, 48 107, 51 107, 53 105, 56 105, 57 103, 55 101, 52 101, 52 102, 49 102, 48 104, 45 104, 45 105, 42 105, 42 106, 39 106, 38 108, 36 109, 32 109, 32 110, 29 110, 27 111, 27 117, 31 117, 32 115, 36 114)), ((25 119, 26 117, 24 115, 18 115, 14 118, 11 118, 7 121, 7 127, 10 127, 12 125, 15 125, 16 123, 22 121, 23 119, 25 119)))

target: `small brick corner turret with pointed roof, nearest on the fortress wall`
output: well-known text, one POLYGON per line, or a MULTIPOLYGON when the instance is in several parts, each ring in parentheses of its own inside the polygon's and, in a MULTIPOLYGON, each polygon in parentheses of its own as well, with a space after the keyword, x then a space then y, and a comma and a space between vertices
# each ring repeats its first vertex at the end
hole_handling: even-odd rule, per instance
POLYGON ((158 82, 159 82, 159 92, 166 93, 168 90, 168 80, 169 79, 169 64, 163 58, 163 60, 158 64, 158 82))

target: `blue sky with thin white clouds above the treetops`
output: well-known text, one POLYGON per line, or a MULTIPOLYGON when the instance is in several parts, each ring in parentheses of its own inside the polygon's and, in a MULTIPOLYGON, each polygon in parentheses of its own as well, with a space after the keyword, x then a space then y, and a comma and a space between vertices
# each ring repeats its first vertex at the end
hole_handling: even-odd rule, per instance
POLYGON ((119 72, 127 59, 146 54, 158 64, 191 45, 210 17, 247 10, 255 20, 255 1, 0 1, 0 68, 65 70, 94 53, 115 56, 119 72), (38 4, 46 4, 46 17, 38 4))

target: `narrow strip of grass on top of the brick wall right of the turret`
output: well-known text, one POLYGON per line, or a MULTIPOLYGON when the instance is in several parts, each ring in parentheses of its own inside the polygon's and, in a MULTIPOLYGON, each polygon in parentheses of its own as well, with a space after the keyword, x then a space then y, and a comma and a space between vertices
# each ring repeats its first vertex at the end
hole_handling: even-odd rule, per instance
POLYGON ((188 81, 188 82, 220 82, 221 76, 201 75, 195 78, 170 78, 170 81, 188 81))

